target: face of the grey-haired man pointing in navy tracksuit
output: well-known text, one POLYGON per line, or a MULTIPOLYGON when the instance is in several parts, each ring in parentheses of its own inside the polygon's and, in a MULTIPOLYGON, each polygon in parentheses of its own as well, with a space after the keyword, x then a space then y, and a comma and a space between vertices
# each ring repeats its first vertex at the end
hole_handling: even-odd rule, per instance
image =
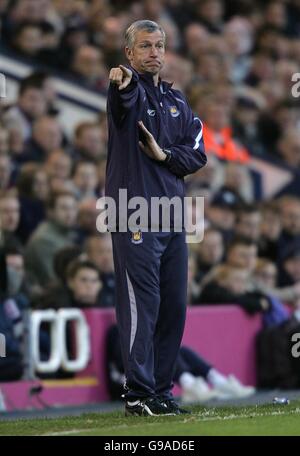
POLYGON ((131 66, 139 73, 160 72, 164 64, 165 44, 160 31, 149 33, 140 30, 135 35, 134 45, 125 49, 126 56, 131 66))

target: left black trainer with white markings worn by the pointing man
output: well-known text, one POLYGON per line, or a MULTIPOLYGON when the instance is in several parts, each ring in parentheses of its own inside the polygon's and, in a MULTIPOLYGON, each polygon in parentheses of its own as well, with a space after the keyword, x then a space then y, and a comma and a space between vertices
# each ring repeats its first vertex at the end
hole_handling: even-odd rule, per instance
POLYGON ((174 416, 175 411, 168 409, 167 405, 156 397, 126 401, 125 416, 174 416))

